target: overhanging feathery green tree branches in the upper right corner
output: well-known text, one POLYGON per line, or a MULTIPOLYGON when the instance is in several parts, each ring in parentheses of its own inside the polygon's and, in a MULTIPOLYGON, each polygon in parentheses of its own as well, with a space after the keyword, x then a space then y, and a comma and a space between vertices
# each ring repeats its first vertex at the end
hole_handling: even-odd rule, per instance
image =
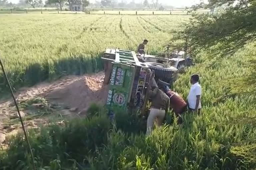
MULTIPOLYGON (((227 6, 219 16, 194 15, 186 29, 180 31, 178 38, 184 40, 188 52, 196 54, 201 49, 210 49, 213 55, 233 54, 248 42, 256 39, 256 1, 255 0, 209 0, 199 8, 227 6)), ((177 38, 177 37, 176 37, 177 38)))

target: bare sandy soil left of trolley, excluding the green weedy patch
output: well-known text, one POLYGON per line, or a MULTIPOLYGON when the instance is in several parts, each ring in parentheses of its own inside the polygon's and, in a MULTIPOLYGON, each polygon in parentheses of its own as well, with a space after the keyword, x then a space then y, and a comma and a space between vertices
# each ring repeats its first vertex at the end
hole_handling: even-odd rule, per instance
MULTIPOLYGON (((55 110, 56 117, 61 114, 61 116, 72 118, 77 117, 80 111, 82 111, 80 115, 84 115, 92 103, 105 104, 108 86, 102 87, 103 81, 104 72, 84 76, 66 76, 55 82, 42 82, 33 87, 21 88, 14 95, 18 103, 26 103, 37 97, 46 98, 50 106, 56 104, 56 108, 60 108, 55 110)), ((17 115, 12 99, 0 101, 0 143, 4 140, 3 134, 16 134, 21 129, 19 122, 12 122, 12 115, 17 115)), ((23 118, 26 128, 36 128, 37 125, 48 124, 50 120, 51 114, 49 117, 41 118, 40 116, 33 120, 27 120, 26 116, 23 118)))

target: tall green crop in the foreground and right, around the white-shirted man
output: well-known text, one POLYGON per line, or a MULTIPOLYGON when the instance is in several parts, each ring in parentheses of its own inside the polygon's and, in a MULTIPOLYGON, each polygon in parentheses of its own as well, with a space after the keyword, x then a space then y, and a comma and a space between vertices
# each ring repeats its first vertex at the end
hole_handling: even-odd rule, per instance
MULTIPOLYGON (((145 135, 146 120, 139 115, 116 113, 115 124, 97 106, 89 109, 89 120, 74 120, 65 126, 49 126, 30 132, 37 167, 44 169, 255 169, 255 96, 233 93, 230 83, 252 72, 246 67, 253 44, 234 56, 208 58, 187 70, 175 83, 184 97, 189 77, 201 77, 202 114, 184 115, 177 125, 172 113, 166 124, 145 135), (247 56, 245 54, 248 54, 247 56), (217 65, 215 65, 217 63, 217 65), (214 65, 212 65, 214 64, 214 65), (168 124, 171 122, 171 124, 168 124)), ((252 57, 253 58, 253 57, 252 57)), ((247 88, 247 87, 244 87, 247 88)), ((31 169, 26 143, 21 135, 9 140, 1 156, 5 169, 31 169)), ((3 168, 2 168, 3 169, 3 168)))

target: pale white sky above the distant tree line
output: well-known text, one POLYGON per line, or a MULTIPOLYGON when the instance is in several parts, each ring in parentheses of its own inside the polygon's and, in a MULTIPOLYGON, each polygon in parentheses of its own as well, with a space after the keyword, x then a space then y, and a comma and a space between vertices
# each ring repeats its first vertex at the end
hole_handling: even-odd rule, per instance
MULTIPOLYGON (((100 0, 89 0, 89 1, 90 1, 90 3, 94 3, 95 1, 100 1, 100 0)), ((119 0, 119 1, 121 1, 121 0, 119 0)), ((132 0, 126 0, 126 1, 130 2, 132 0)), ((143 2, 144 0, 134 0, 134 1, 135 2, 143 2)), ((148 0, 148 1, 151 2, 151 0, 148 0)), ((18 3, 19 0, 9 0, 9 2, 18 3)), ((200 0, 159 0, 159 3, 165 4, 165 5, 171 5, 174 7, 191 6, 194 4, 198 4, 199 2, 200 2, 200 0)))

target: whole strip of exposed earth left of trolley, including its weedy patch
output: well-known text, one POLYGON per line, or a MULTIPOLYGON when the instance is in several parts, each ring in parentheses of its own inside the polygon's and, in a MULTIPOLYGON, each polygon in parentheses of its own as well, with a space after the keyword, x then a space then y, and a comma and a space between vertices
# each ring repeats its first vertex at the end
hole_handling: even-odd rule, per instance
MULTIPOLYGON (((86 116, 92 103, 104 104, 107 86, 104 72, 83 76, 66 76, 55 82, 42 82, 24 87, 15 93, 26 128, 38 128, 52 120, 63 123, 65 118, 86 116)), ((0 101, 0 144, 5 137, 21 130, 12 98, 0 101)))

